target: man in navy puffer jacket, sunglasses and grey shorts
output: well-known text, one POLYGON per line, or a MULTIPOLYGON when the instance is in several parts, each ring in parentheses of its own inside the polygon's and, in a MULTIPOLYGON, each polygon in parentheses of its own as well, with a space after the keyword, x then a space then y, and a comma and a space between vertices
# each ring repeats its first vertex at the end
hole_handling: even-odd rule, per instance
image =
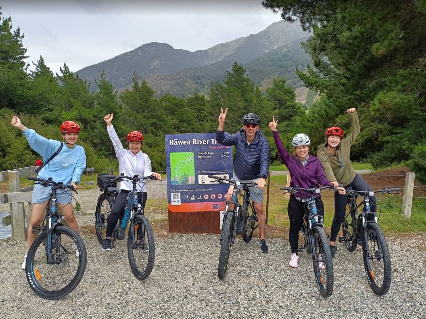
MULTIPOLYGON (((243 118, 243 127, 235 134, 225 136, 223 126, 226 113, 220 108, 219 125, 216 131, 216 141, 222 145, 235 145, 234 177, 233 180, 254 181, 258 187, 250 189, 251 200, 258 214, 260 232, 259 246, 263 253, 268 252, 265 241, 265 212, 263 210, 263 188, 269 169, 269 144, 266 137, 259 131, 260 120, 254 113, 248 113, 243 118)), ((242 185, 241 185, 242 186, 242 185)), ((231 200, 234 187, 230 186, 227 201, 231 200)))

